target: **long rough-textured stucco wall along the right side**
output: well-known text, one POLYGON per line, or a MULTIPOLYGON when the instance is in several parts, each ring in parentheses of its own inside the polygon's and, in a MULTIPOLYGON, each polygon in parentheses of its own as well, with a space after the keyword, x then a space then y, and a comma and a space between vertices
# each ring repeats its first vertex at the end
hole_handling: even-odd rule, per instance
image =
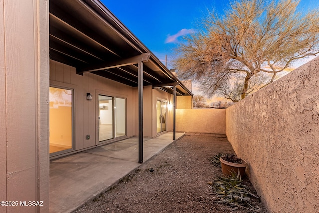
POLYGON ((319 212, 319 58, 226 110, 226 134, 270 213, 319 212))

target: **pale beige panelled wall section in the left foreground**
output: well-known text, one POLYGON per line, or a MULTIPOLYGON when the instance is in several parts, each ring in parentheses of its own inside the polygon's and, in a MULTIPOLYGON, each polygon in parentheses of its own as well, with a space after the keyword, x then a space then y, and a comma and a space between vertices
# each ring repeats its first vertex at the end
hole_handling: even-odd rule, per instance
POLYGON ((48 1, 0 0, 0 14, 0 200, 18 201, 0 212, 48 212, 48 1))

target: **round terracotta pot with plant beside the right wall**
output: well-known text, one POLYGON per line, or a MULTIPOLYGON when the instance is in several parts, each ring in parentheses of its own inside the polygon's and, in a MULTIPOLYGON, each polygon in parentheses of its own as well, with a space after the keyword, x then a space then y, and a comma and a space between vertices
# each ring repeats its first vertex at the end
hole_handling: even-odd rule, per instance
POLYGON ((241 177, 245 177, 245 169, 247 162, 243 159, 238 158, 234 154, 227 154, 221 156, 219 159, 221 163, 221 169, 225 176, 231 176, 232 173, 240 173, 241 177))

